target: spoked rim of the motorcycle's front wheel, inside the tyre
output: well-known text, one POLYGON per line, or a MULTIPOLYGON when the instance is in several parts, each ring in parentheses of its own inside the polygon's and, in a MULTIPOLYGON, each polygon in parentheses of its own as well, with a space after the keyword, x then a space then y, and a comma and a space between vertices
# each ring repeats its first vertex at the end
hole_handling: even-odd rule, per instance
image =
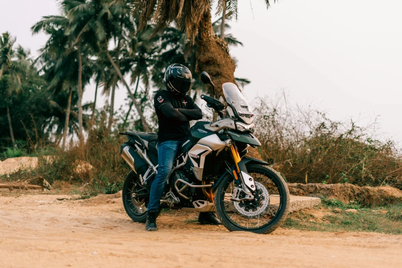
POLYGON ((261 184, 267 190, 269 194, 269 205, 267 205, 265 209, 260 209, 258 207, 259 204, 263 204, 264 202, 263 198, 261 199, 261 197, 258 196, 261 194, 256 194, 256 196, 258 196, 256 199, 260 198, 260 202, 253 200, 254 204, 252 204, 253 202, 250 201, 242 201, 239 205, 235 205, 235 202, 232 201, 231 198, 233 190, 237 185, 232 179, 228 180, 223 187, 224 190, 221 193, 221 207, 224 217, 226 217, 232 224, 235 224, 237 227, 242 229, 252 230, 266 227, 278 219, 281 214, 282 200, 284 197, 281 187, 279 187, 278 182, 272 179, 272 176, 261 170, 250 169, 248 171, 250 176, 254 178, 256 185, 261 184), (240 209, 239 212, 236 207, 244 207, 244 210, 247 212, 250 212, 250 210, 252 211, 247 213, 248 215, 243 215, 241 213, 242 210, 240 209), (262 212, 255 215, 252 213, 253 209, 255 209, 256 212, 260 210, 262 210, 262 212))

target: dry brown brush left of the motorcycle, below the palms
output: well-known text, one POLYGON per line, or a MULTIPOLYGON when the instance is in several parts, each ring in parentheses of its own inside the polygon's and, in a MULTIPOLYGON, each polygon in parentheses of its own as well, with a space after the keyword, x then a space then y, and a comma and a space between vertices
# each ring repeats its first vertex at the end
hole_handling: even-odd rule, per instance
POLYGON ((81 193, 85 197, 98 193, 116 193, 121 189, 129 171, 120 157, 120 144, 124 141, 125 137, 117 133, 108 136, 102 130, 91 130, 87 142, 82 146, 73 144, 66 151, 60 148, 41 150, 37 153, 39 164, 35 169, 17 171, 3 180, 24 181, 43 177, 50 184, 61 181, 86 185, 84 193, 81 193), (43 156, 42 152, 47 156, 43 156), (75 168, 83 162, 91 164, 93 169, 82 172, 75 168))

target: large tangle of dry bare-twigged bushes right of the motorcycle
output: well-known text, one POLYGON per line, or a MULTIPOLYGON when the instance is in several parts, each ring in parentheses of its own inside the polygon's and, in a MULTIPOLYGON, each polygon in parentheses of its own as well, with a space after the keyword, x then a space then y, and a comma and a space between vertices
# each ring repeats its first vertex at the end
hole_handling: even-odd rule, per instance
POLYGON ((257 136, 264 160, 288 182, 391 185, 402 188, 402 157, 395 143, 376 139, 376 122, 330 120, 286 95, 259 99, 257 136))

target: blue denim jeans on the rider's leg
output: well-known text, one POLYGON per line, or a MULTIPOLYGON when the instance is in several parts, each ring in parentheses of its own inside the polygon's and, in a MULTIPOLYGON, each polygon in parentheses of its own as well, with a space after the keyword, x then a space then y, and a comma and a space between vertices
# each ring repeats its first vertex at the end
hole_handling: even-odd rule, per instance
POLYGON ((173 169, 177 151, 180 149, 182 143, 181 141, 164 141, 158 143, 158 174, 151 185, 147 207, 148 212, 157 212, 159 209, 163 189, 165 188, 171 169, 173 169))

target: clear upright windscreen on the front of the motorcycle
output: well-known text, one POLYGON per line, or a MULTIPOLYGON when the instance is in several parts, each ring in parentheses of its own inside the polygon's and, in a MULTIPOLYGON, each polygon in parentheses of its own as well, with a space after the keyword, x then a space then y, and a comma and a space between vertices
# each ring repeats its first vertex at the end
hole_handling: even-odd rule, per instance
POLYGON ((235 109, 239 119, 246 124, 253 123, 254 113, 240 89, 233 83, 224 83, 222 87, 227 104, 235 109))

